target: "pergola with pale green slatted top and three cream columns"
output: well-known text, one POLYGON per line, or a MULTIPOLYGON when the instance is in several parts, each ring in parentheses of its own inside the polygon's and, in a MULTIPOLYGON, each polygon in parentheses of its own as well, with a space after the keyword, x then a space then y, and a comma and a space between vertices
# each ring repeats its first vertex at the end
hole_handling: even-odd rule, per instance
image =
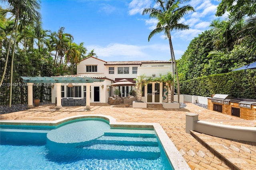
MULTIPOLYGON (((57 96, 57 106, 56 109, 62 108, 61 106, 61 83, 86 83, 86 96, 90 96, 90 84, 93 82, 103 82, 104 80, 99 80, 90 77, 21 77, 25 83, 28 84, 28 107, 33 107, 33 84, 34 83, 54 83, 56 84, 56 96, 57 96)), ((85 109, 90 109, 90 98, 86 98, 85 109)))

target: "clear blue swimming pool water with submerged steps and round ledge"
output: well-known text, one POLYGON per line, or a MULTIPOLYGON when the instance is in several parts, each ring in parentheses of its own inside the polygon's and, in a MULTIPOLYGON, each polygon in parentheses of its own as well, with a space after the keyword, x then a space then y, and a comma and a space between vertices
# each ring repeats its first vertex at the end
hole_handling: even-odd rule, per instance
POLYGON ((0 169, 171 170, 152 129, 112 129, 103 119, 2 127, 0 169))

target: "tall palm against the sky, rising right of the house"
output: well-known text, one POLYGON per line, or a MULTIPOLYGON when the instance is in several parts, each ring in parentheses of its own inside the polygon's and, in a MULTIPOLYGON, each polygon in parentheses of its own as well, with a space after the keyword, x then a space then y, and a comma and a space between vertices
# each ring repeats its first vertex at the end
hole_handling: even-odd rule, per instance
MULTIPOLYGON (((185 5, 182 7, 179 6, 186 1, 188 0, 156 0, 156 4, 159 6, 159 8, 145 8, 142 13, 143 15, 149 14, 150 18, 156 18, 158 20, 156 28, 152 32, 150 32, 148 36, 148 41, 150 41, 150 39, 154 35, 161 32, 164 32, 164 35, 166 35, 169 40, 172 60, 172 76, 174 76, 174 66, 176 71, 178 103, 180 102, 180 85, 175 55, 172 46, 171 31, 189 29, 189 25, 185 25, 184 23, 178 23, 185 14, 188 14, 188 12, 194 12, 194 8, 190 5, 185 5)), ((172 102, 174 98, 174 83, 172 84, 171 96, 172 99, 170 101, 172 102)))

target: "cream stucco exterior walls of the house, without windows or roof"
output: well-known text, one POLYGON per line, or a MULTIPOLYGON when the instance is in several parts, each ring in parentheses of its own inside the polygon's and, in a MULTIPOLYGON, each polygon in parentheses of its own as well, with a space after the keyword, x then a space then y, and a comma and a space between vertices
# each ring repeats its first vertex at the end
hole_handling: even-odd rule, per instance
MULTIPOLYGON (((91 98, 90 102, 94 102, 94 87, 99 87, 100 89, 100 103, 107 103, 108 102, 108 97, 110 96, 110 90, 108 88, 108 85, 113 83, 112 80, 115 80, 116 78, 137 78, 137 76, 141 76, 143 74, 146 75, 146 77, 158 77, 160 74, 167 74, 167 72, 172 71, 172 63, 161 63, 161 62, 156 62, 156 63, 145 63, 142 62, 139 64, 133 63, 133 64, 112 64, 113 62, 106 62, 101 59, 95 58, 95 57, 88 57, 84 60, 82 60, 78 65, 77 65, 77 74, 96 74, 100 76, 105 76, 106 78, 104 79, 104 82, 94 82, 91 83, 91 98), (86 66, 97 66, 97 71, 92 71, 92 72, 86 72, 86 66), (109 74, 109 68, 114 67, 114 74, 109 74), (129 67, 129 73, 128 74, 118 74, 118 67, 129 67), (132 73, 133 67, 137 67, 137 73, 132 73), (103 85, 103 89, 102 89, 103 85)), ((124 62, 125 63, 125 62, 124 62)), ((132 62, 131 62, 132 63, 132 62)), ((68 84, 62 83, 62 86, 64 86, 64 94, 66 97, 66 86, 68 84)), ((84 92, 83 88, 85 84, 73 84, 73 86, 81 86, 81 98, 84 97, 84 92)), ((125 87, 116 87, 120 88, 122 96, 127 96, 129 95, 128 93, 130 92, 131 89, 134 89, 134 86, 129 86, 128 89, 125 87), (128 92, 127 92, 128 90, 128 92), (125 94, 125 95, 124 95, 125 94)), ((112 89, 114 90, 114 88, 112 89)), ((162 84, 160 86, 160 91, 162 92, 162 84)), ((160 102, 162 103, 162 94, 160 95, 160 102)), ((52 103, 55 103, 55 97, 56 97, 56 87, 52 88, 52 103)), ((147 87, 145 87, 145 96, 142 97, 142 101, 147 102, 147 87)))

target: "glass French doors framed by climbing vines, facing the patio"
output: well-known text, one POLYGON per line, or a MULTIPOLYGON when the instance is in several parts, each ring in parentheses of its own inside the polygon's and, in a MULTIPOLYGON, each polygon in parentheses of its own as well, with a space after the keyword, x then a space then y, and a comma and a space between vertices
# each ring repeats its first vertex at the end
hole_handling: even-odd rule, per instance
POLYGON ((162 89, 160 83, 149 83, 147 85, 147 102, 148 103, 160 103, 162 100, 162 89))

